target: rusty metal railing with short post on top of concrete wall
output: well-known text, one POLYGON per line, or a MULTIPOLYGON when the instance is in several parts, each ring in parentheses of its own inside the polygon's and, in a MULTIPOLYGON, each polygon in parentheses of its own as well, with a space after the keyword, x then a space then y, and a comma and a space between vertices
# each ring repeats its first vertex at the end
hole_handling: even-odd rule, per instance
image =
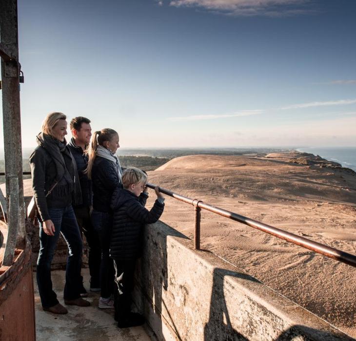
MULTIPOLYGON (((156 185, 148 183, 147 187, 154 189, 156 187, 156 185)), ((212 206, 209 204, 205 204, 201 200, 191 199, 184 195, 180 195, 175 192, 172 192, 168 189, 159 187, 159 191, 161 193, 169 195, 170 197, 173 197, 175 199, 178 199, 180 201, 183 201, 187 204, 194 206, 194 210, 195 210, 194 244, 195 244, 196 249, 200 249, 200 211, 201 211, 201 209, 206 209, 207 211, 219 214, 223 217, 235 220, 235 221, 245 224, 247 226, 257 228, 260 231, 272 234, 273 236, 283 239, 289 243, 293 243, 295 245, 302 246, 302 247, 312 250, 316 253, 320 253, 326 257, 333 258, 336 261, 356 267, 356 256, 351 253, 344 252, 344 251, 338 250, 334 247, 330 247, 327 245, 323 245, 321 243, 314 242, 308 238, 300 237, 297 234, 290 233, 290 232, 287 232, 280 228, 273 227, 273 226, 258 222, 257 220, 253 220, 253 219, 244 217, 243 215, 240 215, 240 214, 237 214, 234 212, 230 212, 226 209, 218 208, 218 207, 215 207, 215 206, 212 206)))

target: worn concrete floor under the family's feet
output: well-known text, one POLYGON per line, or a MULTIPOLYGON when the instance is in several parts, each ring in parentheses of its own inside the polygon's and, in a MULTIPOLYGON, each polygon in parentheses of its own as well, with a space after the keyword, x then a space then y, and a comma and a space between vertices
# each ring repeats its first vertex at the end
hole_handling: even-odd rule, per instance
MULTIPOLYGON (((64 305, 63 288, 64 274, 62 270, 52 271, 52 282, 58 300, 64 305)), ((82 269, 84 286, 89 287, 89 270, 82 269)), ((132 340, 151 341, 144 326, 119 329, 114 320, 114 310, 99 309, 99 293, 89 292, 86 298, 90 307, 66 306, 68 314, 55 315, 42 310, 40 295, 34 272, 35 311, 36 311, 36 340, 37 341, 66 341, 66 340, 132 340)), ((153 340, 153 339, 152 339, 153 340)))

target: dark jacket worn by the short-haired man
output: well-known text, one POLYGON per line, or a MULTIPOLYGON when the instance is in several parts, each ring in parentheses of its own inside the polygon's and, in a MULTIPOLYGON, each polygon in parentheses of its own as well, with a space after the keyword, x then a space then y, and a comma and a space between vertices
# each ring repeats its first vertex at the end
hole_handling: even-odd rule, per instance
POLYGON ((82 195, 82 205, 76 207, 89 207, 92 205, 93 200, 92 182, 88 178, 88 175, 84 173, 84 170, 88 165, 89 158, 84 153, 83 149, 75 144, 73 138, 69 141, 68 147, 76 160, 82 195))

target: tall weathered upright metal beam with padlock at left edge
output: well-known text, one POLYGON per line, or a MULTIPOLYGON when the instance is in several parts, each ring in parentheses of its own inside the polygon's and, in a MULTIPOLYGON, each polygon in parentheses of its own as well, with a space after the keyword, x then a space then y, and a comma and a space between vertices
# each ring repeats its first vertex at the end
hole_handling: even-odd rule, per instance
POLYGON ((5 182, 9 220, 9 234, 6 242, 6 248, 9 248, 9 250, 5 250, 5 252, 7 254, 7 259, 11 258, 12 261, 10 254, 14 254, 15 249, 13 246, 14 243, 16 244, 17 239, 17 233, 14 234, 13 229, 19 231, 19 243, 24 243, 25 240, 17 0, 0 1, 0 32, 1 49, 3 53, 11 57, 11 60, 8 60, 6 56, 5 60, 1 58, 1 87, 5 152, 5 182), (17 198, 14 198, 14 193, 17 193, 17 198), (15 241, 13 239, 15 239, 15 241))

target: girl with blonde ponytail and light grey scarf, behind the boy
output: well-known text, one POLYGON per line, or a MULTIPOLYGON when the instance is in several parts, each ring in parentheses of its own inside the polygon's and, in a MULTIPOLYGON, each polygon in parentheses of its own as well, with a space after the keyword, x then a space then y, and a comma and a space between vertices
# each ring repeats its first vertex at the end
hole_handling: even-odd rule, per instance
POLYGON ((114 265, 109 257, 113 216, 110 209, 114 189, 121 185, 122 170, 118 157, 119 134, 109 128, 95 132, 88 148, 88 177, 93 184, 92 224, 98 231, 101 247, 99 308, 114 309, 114 265))

